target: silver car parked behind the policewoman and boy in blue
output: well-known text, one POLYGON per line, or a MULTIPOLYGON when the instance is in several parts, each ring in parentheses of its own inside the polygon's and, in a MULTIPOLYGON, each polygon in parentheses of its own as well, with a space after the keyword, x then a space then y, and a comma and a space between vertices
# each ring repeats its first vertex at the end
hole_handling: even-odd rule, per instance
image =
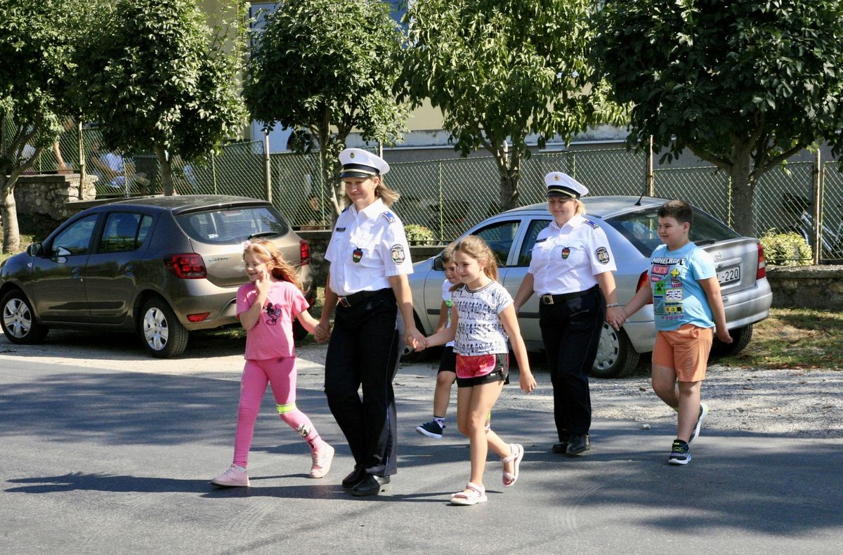
MULTIPOLYGON (((615 282, 618 301, 626 304, 647 282, 652 251, 661 244, 658 207, 668 199, 644 197, 584 197, 588 218, 599 224, 609 238, 618 270, 615 282)), ((515 296, 527 273, 535 238, 550 224, 545 203, 515 208, 487 218, 465 234, 479 235, 495 252, 501 283, 515 296)), ((717 218, 695 208, 690 240, 714 257, 722 288, 726 321, 734 342, 715 342, 715 354, 738 353, 749 344, 752 326, 770 315, 772 293, 767 282, 764 251, 760 241, 741 237, 717 218)), ((416 263, 410 283, 417 322, 430 333, 439 317, 445 278, 438 256, 416 263)), ((543 349, 539 329, 539 300, 534 295, 521 308, 518 324, 527 348, 543 349)), ((604 325, 592 375, 620 377, 636 368, 641 353, 652 351, 656 331, 652 304, 633 315, 620 331, 604 325)))

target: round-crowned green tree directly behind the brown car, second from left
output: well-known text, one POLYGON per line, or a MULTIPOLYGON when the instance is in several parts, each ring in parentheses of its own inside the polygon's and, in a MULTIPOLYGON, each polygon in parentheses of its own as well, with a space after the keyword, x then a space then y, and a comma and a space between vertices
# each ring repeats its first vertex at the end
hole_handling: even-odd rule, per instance
POLYGON ((175 155, 201 160, 244 125, 240 51, 223 46, 192 0, 121 0, 82 52, 78 97, 105 148, 154 152, 165 195, 175 155))

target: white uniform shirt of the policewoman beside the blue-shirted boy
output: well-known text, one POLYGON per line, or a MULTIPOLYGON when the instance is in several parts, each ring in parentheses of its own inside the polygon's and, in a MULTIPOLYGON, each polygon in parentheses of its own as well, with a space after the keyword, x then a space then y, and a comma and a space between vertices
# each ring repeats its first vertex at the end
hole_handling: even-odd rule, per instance
POLYGON ((533 290, 540 295, 585 291, 597 285, 594 276, 615 269, 604 230, 580 214, 562 227, 551 221, 542 229, 529 263, 533 290))

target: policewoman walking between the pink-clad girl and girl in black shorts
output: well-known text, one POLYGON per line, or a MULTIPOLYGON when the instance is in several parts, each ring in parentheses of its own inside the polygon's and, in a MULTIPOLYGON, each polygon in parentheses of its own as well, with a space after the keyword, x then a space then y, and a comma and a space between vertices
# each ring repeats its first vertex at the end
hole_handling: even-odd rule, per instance
POLYGON ((389 164, 360 148, 343 150, 340 162, 350 206, 337 218, 325 252, 330 272, 314 336, 328 337, 336 310, 325 359, 325 395, 354 455, 354 471, 342 487, 352 495, 377 495, 389 490, 397 466, 392 380, 399 353, 404 341, 420 347, 425 338, 413 320, 404 226, 389 210, 398 193, 381 182, 389 164))

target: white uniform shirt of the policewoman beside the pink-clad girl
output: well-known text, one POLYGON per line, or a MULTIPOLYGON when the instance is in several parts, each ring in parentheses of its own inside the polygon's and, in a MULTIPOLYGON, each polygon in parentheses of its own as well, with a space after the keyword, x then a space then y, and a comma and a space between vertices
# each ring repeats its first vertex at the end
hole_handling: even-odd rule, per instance
POLYGON ((330 288, 340 296, 389 288, 387 277, 413 272, 404 225, 381 199, 359 213, 352 204, 340 214, 325 260, 330 288))

